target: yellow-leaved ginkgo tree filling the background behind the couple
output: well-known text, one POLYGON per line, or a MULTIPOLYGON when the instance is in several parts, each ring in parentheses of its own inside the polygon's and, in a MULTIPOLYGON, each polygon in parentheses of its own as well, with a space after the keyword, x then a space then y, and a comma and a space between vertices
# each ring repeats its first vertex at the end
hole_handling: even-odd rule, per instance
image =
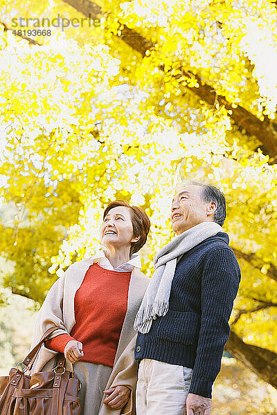
POLYGON ((101 26, 26 40, 9 30, 18 9, 5 9, 0 38, 1 196, 12 211, 0 243, 13 264, 3 285, 42 303, 98 248, 116 198, 150 215, 151 275, 173 237, 175 185, 208 181, 226 195, 224 229, 242 268, 227 349, 276 387, 274 3, 33 2, 33 16, 62 10, 101 26))

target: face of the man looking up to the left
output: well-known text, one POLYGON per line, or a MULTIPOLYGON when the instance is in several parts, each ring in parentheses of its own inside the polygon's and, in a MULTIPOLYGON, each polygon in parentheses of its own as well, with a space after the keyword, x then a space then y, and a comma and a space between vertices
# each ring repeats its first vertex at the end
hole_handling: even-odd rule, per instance
POLYGON ((170 219, 172 229, 177 234, 193 228, 198 223, 213 221, 216 204, 202 201, 202 191, 201 186, 188 185, 175 194, 170 219))

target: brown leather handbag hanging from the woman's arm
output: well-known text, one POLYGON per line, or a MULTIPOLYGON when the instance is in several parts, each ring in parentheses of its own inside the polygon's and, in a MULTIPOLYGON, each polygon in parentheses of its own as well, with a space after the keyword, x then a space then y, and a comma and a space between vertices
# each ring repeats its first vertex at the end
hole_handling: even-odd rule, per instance
POLYGON ((55 330, 48 329, 28 356, 10 369, 9 376, 0 377, 1 415, 80 415, 80 380, 65 369, 62 353, 57 355, 57 365, 51 371, 26 374, 42 344, 55 330), (23 369, 19 369, 21 365, 23 369))

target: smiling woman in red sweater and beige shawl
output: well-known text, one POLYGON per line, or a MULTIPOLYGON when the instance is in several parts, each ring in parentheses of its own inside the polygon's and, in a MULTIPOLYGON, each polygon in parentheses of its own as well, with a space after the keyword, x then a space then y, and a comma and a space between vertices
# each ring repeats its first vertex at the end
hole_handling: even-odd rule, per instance
POLYGON ((33 373, 55 365, 57 352, 82 382, 82 415, 134 414, 134 317, 148 285, 139 255, 148 215, 127 201, 109 203, 100 227, 105 251, 69 266, 51 287, 35 323, 35 345, 57 326, 33 373), (104 394, 103 394, 104 392, 104 394))

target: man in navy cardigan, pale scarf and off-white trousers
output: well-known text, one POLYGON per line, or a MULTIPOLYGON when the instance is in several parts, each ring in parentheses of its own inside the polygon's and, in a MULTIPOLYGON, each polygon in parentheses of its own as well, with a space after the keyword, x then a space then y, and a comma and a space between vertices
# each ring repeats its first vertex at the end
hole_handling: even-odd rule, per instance
POLYGON ((217 187, 190 183, 175 194, 171 221, 177 237, 154 258, 134 324, 137 415, 211 414, 240 283, 238 261, 222 230, 225 217, 217 187))

